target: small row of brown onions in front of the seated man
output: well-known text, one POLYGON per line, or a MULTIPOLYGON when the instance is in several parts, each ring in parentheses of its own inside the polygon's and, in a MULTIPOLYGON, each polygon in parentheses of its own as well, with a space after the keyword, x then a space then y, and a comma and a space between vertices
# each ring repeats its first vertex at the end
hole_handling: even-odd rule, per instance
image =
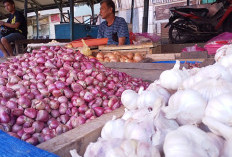
POLYGON ((112 52, 112 53, 102 53, 102 52, 98 52, 96 55, 96 58, 100 61, 100 62, 127 62, 127 63, 136 63, 136 62, 140 62, 144 59, 143 55, 139 52, 137 53, 132 53, 132 52, 128 52, 128 53, 120 53, 120 52, 112 52))

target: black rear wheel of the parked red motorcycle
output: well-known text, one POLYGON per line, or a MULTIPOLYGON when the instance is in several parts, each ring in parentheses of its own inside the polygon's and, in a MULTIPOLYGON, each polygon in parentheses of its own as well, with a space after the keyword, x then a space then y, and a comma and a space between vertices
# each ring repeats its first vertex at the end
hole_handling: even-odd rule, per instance
POLYGON ((169 40, 171 43, 174 44, 183 44, 191 40, 191 36, 189 33, 185 32, 184 30, 180 30, 176 27, 178 25, 179 27, 186 27, 188 25, 188 22, 186 20, 178 20, 174 22, 174 25, 171 25, 169 28, 169 40))

